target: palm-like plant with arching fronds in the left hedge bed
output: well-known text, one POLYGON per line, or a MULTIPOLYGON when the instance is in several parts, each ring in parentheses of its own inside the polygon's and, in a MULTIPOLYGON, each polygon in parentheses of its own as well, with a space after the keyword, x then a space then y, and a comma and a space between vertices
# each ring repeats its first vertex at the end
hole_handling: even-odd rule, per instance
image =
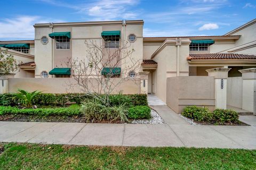
POLYGON ((22 105, 24 105, 25 107, 33 107, 35 101, 35 97, 41 93, 41 91, 33 91, 33 92, 28 92, 26 90, 21 90, 21 89, 18 89, 17 90, 18 93, 15 94, 15 97, 17 97, 20 101, 20 103, 22 105))

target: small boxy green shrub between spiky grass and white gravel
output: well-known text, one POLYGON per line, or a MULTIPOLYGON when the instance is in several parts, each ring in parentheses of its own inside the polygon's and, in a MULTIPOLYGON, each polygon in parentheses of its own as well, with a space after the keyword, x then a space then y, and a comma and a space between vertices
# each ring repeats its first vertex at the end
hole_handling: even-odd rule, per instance
POLYGON ((150 118, 151 109, 148 106, 134 106, 128 110, 128 117, 132 119, 150 118))

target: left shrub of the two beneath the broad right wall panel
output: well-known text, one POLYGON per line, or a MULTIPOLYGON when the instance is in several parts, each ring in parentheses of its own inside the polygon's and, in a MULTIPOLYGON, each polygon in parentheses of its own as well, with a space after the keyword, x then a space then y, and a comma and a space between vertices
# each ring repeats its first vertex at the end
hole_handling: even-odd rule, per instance
POLYGON ((212 113, 206 107, 187 106, 183 109, 181 115, 199 122, 209 122, 212 120, 212 113))

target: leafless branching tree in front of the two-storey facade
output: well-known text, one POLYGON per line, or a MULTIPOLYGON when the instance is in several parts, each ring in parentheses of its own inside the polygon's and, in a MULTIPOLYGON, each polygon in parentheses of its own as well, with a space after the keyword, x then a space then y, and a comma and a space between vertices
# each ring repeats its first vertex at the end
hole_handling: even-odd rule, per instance
POLYGON ((118 48, 105 48, 105 44, 95 40, 84 43, 85 57, 68 60, 71 76, 75 79, 69 85, 78 85, 87 95, 108 106, 109 95, 116 87, 128 80, 136 83, 142 60, 132 55, 134 49, 128 42, 118 48))

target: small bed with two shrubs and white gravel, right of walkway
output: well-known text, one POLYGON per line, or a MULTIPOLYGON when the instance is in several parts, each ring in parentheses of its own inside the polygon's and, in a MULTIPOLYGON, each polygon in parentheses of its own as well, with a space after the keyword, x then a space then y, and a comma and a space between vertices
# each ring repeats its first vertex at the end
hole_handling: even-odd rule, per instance
POLYGON ((206 107, 187 106, 181 117, 193 125, 229 125, 247 126, 238 120, 238 113, 230 109, 215 109, 210 112, 206 107))

